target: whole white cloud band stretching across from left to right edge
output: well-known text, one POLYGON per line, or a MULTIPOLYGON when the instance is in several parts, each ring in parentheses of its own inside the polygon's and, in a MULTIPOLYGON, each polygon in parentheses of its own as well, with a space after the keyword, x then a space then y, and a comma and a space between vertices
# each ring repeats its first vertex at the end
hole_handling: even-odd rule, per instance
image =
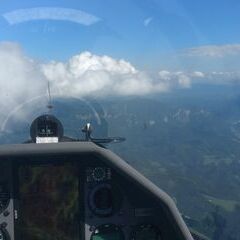
MULTIPOLYGON (((47 95, 47 83, 57 97, 108 97, 146 95, 192 84, 238 83, 240 72, 166 71, 155 74, 138 70, 131 63, 109 56, 83 52, 66 62, 37 62, 18 44, 0 43, 0 123, 11 114, 26 117, 21 106, 47 95)), ((45 98, 45 100, 47 97, 45 98)))

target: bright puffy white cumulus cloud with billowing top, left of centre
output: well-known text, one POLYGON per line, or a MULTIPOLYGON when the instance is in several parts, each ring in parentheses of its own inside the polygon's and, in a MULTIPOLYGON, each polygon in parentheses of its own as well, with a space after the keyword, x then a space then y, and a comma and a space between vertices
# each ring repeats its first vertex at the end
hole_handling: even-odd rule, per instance
POLYGON ((46 79, 61 96, 143 95, 162 92, 168 84, 151 78, 125 60, 83 52, 68 62, 42 65, 46 79))

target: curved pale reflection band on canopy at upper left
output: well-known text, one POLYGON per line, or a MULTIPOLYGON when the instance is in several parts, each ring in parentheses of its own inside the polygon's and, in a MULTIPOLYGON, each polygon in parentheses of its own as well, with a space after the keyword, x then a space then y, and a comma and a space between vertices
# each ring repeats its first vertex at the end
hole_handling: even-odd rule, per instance
POLYGON ((98 17, 81 10, 54 7, 18 9, 4 13, 3 17, 10 25, 32 20, 63 20, 89 26, 100 21, 98 17))

